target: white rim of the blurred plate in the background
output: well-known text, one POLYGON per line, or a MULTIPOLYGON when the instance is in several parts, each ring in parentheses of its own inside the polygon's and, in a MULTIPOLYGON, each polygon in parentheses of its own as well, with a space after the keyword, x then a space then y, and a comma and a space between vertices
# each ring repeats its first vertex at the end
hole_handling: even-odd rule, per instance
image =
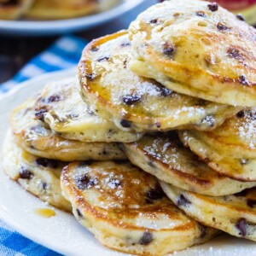
POLYGON ((124 15, 145 0, 121 0, 118 5, 105 12, 68 20, 0 20, 0 34, 53 35, 89 29, 108 20, 124 15))

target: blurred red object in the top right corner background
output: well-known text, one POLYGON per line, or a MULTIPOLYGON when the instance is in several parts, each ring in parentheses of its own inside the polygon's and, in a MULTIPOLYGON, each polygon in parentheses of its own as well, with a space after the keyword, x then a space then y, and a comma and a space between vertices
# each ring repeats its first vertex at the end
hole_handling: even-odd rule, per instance
POLYGON ((242 9, 250 8, 256 4, 256 0, 210 0, 210 2, 217 2, 222 7, 229 9, 230 11, 241 11, 242 9))

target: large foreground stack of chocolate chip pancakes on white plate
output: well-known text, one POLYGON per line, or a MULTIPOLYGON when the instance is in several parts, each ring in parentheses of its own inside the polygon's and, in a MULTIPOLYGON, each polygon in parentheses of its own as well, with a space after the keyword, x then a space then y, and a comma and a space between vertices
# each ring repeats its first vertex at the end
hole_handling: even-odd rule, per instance
POLYGON ((151 7, 13 111, 5 171, 125 253, 256 241, 255 38, 217 3, 151 7))

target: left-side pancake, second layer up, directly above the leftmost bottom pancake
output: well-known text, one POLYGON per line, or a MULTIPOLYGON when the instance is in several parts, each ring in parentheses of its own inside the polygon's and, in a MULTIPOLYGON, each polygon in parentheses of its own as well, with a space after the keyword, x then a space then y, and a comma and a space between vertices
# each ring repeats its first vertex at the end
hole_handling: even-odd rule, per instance
POLYGON ((28 100, 9 119, 15 142, 30 154, 63 161, 125 159, 117 143, 83 143, 56 135, 44 122, 33 119, 33 109, 34 101, 28 100))

